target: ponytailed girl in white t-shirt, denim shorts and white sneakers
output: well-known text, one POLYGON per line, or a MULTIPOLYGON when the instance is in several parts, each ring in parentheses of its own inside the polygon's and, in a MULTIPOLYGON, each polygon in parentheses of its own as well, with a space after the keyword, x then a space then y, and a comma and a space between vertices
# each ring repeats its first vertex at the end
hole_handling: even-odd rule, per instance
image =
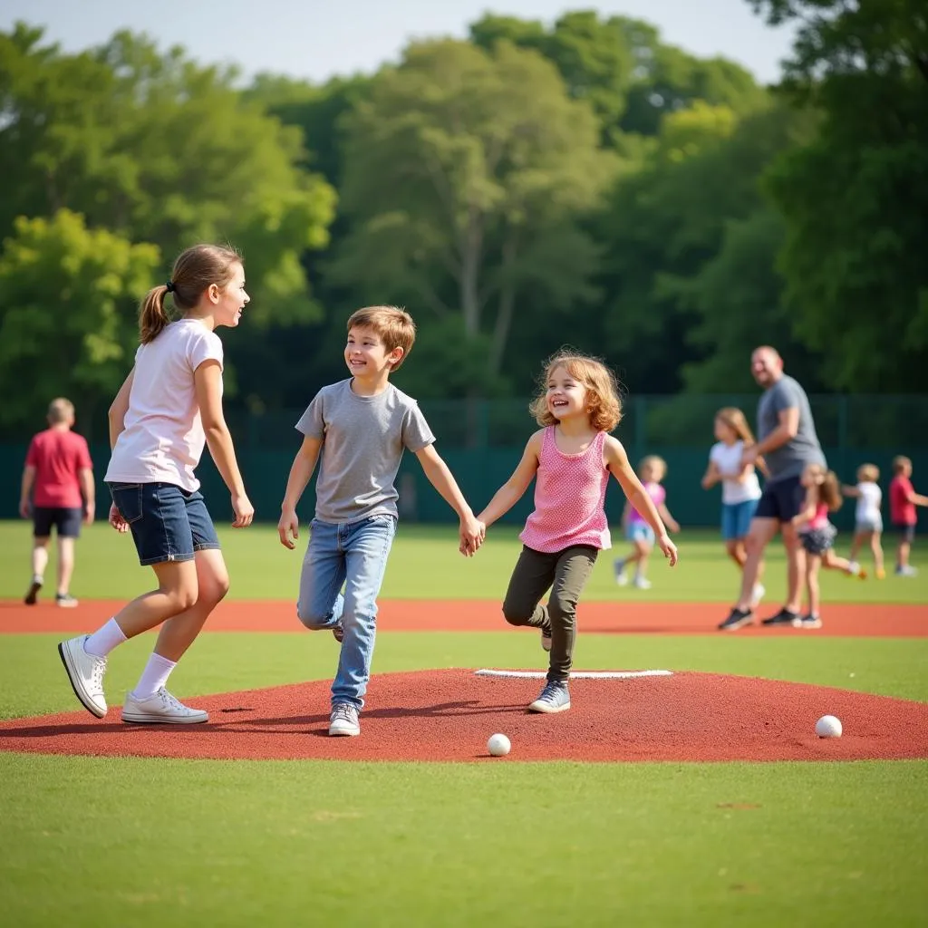
POLYGON ((127 638, 161 625, 145 671, 126 695, 122 720, 207 721, 205 712, 178 702, 165 684, 229 586, 194 475, 204 445, 232 495, 233 527, 250 525, 254 515, 223 416, 223 346, 215 334, 220 326, 238 326, 248 302, 238 253, 196 245, 142 303, 135 367, 110 406, 106 481, 113 497, 110 524, 132 532, 139 562, 150 565, 158 588, 134 599, 93 635, 58 645, 71 687, 98 718, 107 713, 107 655, 127 638), (164 307, 169 293, 183 314, 177 321, 164 307))

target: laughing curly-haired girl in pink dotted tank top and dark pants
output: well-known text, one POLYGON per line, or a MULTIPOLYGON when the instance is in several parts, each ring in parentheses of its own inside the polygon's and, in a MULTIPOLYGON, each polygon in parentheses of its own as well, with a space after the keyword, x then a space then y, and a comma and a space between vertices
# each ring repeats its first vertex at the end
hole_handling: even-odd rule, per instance
POLYGON ((478 516, 492 525, 521 498, 535 478, 535 510, 520 535, 519 557, 503 601, 510 625, 541 630, 550 652, 548 680, 532 712, 571 707, 568 680, 576 638, 576 605, 602 548, 611 547, 604 503, 609 474, 651 525, 657 544, 677 563, 677 548, 625 448, 609 432, 622 418, 612 372, 595 358, 565 352, 545 366, 541 392, 531 406, 542 428, 528 440, 509 480, 478 516), (548 602, 541 600, 548 594, 548 602))

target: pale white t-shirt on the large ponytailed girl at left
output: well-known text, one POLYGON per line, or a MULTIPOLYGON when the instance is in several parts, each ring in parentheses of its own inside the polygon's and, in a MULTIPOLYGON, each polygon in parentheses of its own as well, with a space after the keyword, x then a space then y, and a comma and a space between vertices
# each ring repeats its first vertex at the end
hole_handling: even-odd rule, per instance
POLYGON ((223 343, 196 319, 168 325, 154 342, 139 345, 125 429, 116 439, 105 480, 200 487, 193 469, 206 434, 193 372, 207 360, 223 363, 223 343))

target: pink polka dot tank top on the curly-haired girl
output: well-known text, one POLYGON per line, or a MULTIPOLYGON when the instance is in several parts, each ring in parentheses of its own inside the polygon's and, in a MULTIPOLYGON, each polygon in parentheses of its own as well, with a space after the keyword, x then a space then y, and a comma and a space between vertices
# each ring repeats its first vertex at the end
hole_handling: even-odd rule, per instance
POLYGON ((525 522, 522 544, 553 554, 573 545, 611 548, 606 522, 606 487, 609 470, 602 460, 606 432, 598 432, 579 455, 558 449, 549 426, 542 437, 541 458, 535 475, 535 511, 525 522))

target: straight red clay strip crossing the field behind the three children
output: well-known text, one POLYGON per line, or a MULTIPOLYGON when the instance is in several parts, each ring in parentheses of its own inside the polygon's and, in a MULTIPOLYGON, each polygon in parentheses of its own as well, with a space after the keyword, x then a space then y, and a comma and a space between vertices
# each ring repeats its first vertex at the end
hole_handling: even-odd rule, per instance
MULTIPOLYGON (((121 601, 81 602, 76 609, 58 609, 50 603, 24 606, 0 602, 0 634, 29 632, 76 633, 92 631, 116 612, 121 601)), ((715 626, 728 615, 728 603, 712 602, 584 602, 577 609, 581 632, 643 635, 722 634, 715 626)), ((764 617, 776 612, 766 607, 764 617)), ((833 603, 825 607, 824 627, 742 628, 737 635, 800 635, 868 638, 923 638, 928 635, 928 605, 877 605, 833 603)), ((496 599, 440 600, 383 599, 378 615, 380 631, 508 631, 496 599)), ((234 600, 222 603, 206 625, 212 632, 302 631, 293 604, 234 600)))

